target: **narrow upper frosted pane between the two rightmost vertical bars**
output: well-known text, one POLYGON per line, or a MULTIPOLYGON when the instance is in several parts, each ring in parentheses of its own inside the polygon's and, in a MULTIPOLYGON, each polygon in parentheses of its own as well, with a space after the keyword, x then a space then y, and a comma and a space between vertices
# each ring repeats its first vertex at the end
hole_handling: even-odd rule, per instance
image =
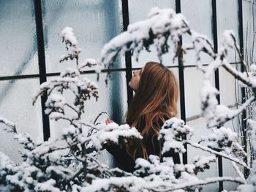
MULTIPOLYGON (((236 41, 239 45, 238 34, 238 1, 234 0, 217 0, 217 33, 218 48, 222 47, 222 34, 225 30, 235 32, 236 41)), ((229 50, 227 61, 234 62, 236 55, 235 50, 229 50)))

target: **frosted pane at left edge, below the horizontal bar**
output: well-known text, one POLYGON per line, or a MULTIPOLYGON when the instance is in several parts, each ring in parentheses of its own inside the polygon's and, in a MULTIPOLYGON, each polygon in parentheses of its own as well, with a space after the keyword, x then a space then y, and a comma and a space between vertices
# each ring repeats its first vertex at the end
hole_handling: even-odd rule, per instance
MULTIPOLYGON (((15 123, 18 133, 30 134, 42 140, 41 101, 32 106, 32 97, 39 88, 39 80, 0 81, 0 116, 15 123)), ((0 124, 0 150, 19 161, 18 142, 5 133, 0 124)))

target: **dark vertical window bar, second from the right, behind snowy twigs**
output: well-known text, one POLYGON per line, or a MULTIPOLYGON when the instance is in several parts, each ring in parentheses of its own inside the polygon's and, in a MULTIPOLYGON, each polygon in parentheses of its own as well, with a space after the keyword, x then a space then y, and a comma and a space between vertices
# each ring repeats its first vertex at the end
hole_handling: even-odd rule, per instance
MULTIPOLYGON (((214 52, 218 52, 218 34, 217 34, 217 5, 216 0, 211 1, 212 7, 212 32, 214 35, 214 52)), ((215 88, 219 90, 219 69, 215 72, 215 88)), ((217 96, 218 103, 220 103, 220 97, 217 96)), ((223 176, 222 157, 218 156, 218 174, 219 177, 223 176)), ((219 182, 219 191, 223 191, 223 182, 219 182)))

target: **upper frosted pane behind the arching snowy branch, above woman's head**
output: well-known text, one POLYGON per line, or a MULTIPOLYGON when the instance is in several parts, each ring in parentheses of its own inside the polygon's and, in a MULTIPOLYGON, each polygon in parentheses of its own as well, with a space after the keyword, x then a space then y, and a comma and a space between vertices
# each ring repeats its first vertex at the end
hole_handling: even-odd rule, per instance
MULTIPOLYGON (((161 0, 161 1, 136 1, 130 0, 129 1, 129 23, 135 23, 139 20, 145 20, 147 18, 148 12, 153 7, 163 8, 172 8, 174 11, 176 9, 175 1, 174 0, 161 0)), ((142 67, 148 61, 157 61, 157 49, 153 46, 150 47, 151 52, 143 50, 139 55, 139 61, 135 60, 135 57, 132 57, 132 67, 142 67)), ((170 46, 170 53, 166 53, 162 56, 162 64, 165 66, 177 66, 177 60, 173 63, 173 56, 174 56, 173 46, 170 46)))

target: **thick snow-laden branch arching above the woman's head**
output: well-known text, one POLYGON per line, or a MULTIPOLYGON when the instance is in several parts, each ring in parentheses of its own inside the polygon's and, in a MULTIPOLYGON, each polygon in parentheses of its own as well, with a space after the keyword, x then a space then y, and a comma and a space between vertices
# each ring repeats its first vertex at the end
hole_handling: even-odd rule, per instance
POLYGON ((138 54, 145 47, 155 45, 159 60, 162 54, 169 51, 168 39, 175 45, 184 32, 189 31, 187 20, 173 9, 159 9, 154 7, 148 14, 148 19, 130 24, 127 31, 113 38, 103 47, 99 62, 106 69, 110 69, 118 53, 132 50, 138 60, 138 54))

